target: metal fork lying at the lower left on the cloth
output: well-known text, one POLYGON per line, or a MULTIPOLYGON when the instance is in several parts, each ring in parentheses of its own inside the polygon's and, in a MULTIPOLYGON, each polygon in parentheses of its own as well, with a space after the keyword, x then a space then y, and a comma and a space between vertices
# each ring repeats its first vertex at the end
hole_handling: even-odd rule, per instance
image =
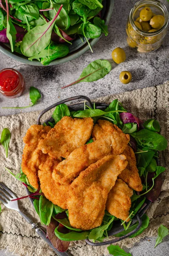
POLYGON ((69 253, 64 252, 61 253, 58 251, 54 246, 52 245, 51 241, 46 238, 46 231, 43 230, 42 227, 39 227, 37 223, 34 223, 31 218, 29 218, 27 215, 25 215, 18 207, 18 201, 11 201, 12 199, 16 199, 17 197, 14 195, 13 192, 11 192, 10 189, 8 189, 6 186, 4 186, 2 183, 0 183, 0 201, 9 209, 16 210, 20 213, 20 215, 23 216, 23 218, 32 225, 32 229, 35 229, 37 234, 43 238, 43 240, 46 241, 46 243, 54 250, 54 252, 58 256, 70 256, 69 253))

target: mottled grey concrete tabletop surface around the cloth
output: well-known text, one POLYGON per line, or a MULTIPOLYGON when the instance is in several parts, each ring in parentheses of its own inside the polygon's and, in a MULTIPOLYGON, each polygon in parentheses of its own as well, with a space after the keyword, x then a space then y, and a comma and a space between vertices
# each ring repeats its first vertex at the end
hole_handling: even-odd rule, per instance
MULTIPOLYGON (((169 10, 167 0, 162 0, 169 10)), ((43 110, 47 106, 70 96, 86 95, 95 97, 120 93, 137 88, 162 84, 169 80, 169 32, 163 46, 156 52, 142 54, 131 49, 126 43, 126 20, 135 0, 115 0, 113 15, 109 23, 109 35, 102 37, 93 47, 93 54, 88 51, 73 61, 53 67, 33 67, 14 61, 0 53, 0 70, 13 67, 19 70, 26 81, 26 90, 20 98, 8 99, 0 95, 0 107, 29 105, 29 87, 37 87, 42 93, 42 99, 37 105, 24 110, 0 108, 0 116, 20 113, 21 111, 43 110), (111 58, 112 50, 122 47, 126 51, 126 61, 116 65, 111 58), (112 63, 112 71, 103 79, 92 83, 80 83, 61 90, 61 87, 78 79, 83 68, 91 61, 103 58, 112 63), (132 82, 122 84, 119 74, 123 70, 132 73, 132 82)), ((169 236, 154 249, 155 238, 143 239, 131 249, 126 249, 133 256, 167 256, 169 255, 169 236)), ((11 256, 11 253, 0 251, 0 256, 11 256)))

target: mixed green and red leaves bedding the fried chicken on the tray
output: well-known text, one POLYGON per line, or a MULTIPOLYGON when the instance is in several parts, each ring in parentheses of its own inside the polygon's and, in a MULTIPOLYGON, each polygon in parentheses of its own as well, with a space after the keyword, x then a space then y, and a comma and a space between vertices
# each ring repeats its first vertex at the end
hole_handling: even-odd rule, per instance
MULTIPOLYGON (((20 170, 20 174, 15 177, 26 186, 27 197, 29 197, 37 214, 40 216, 42 224, 46 225, 47 237, 57 250, 66 251, 70 241, 74 240, 86 239, 88 244, 100 246, 140 235, 149 225, 149 217, 146 215, 146 210, 160 195, 161 176, 165 171, 165 168, 158 163, 158 153, 166 149, 167 140, 159 133, 160 125, 158 121, 149 119, 143 122, 132 113, 129 113, 118 99, 106 104, 91 102, 86 96, 75 96, 46 108, 38 116, 37 124, 50 125, 53 128, 63 116, 92 117, 94 123, 98 119, 106 119, 117 125, 123 133, 129 134, 129 145, 136 155, 137 169, 141 177, 143 190, 141 192, 133 190, 132 206, 129 212, 130 221, 117 219, 105 210, 103 223, 100 227, 80 231, 71 227, 68 210, 62 209, 46 199, 40 189, 36 190, 29 184, 26 175, 20 170), (65 104, 77 99, 85 101, 84 103, 72 105, 65 104), (55 108, 52 116, 41 122, 40 119, 43 114, 52 108, 55 108), (54 237, 53 234, 55 234, 54 237), (105 241, 106 238, 112 235, 115 236, 113 240, 105 241), (60 242, 58 243, 58 241, 60 242)), ((90 142, 92 141, 89 140, 88 143, 90 142)))

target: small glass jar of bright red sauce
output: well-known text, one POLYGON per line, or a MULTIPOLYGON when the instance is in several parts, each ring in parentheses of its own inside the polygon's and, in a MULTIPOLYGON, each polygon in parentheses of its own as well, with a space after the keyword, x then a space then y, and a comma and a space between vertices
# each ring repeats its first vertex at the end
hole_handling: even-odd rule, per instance
POLYGON ((0 93, 9 98, 17 98, 22 95, 25 82, 21 73, 13 68, 0 71, 0 93))

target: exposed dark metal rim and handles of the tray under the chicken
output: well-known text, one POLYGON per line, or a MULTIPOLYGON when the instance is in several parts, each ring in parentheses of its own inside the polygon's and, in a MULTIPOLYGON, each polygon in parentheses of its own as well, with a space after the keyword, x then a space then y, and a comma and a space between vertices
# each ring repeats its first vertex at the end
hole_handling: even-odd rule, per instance
MULTIPOLYGON (((70 111, 78 111, 78 110, 83 110, 84 109, 84 103, 83 102, 80 102, 80 103, 72 103, 73 101, 77 100, 77 99, 83 99, 86 101, 86 105, 88 105, 89 107, 93 108, 93 103, 92 101, 86 97, 86 96, 74 96, 74 97, 71 97, 71 98, 68 98, 68 99, 64 99, 64 100, 61 100, 60 102, 57 102, 51 106, 49 106, 48 108, 46 108, 45 110, 43 110, 39 116, 37 117, 37 124, 38 125, 41 125, 43 124, 44 122, 46 123, 46 125, 49 125, 48 122, 54 122, 54 119, 52 118, 52 116, 49 116, 49 118, 47 118, 46 120, 43 120, 41 121, 41 117, 43 116, 44 113, 48 112, 49 110, 51 110, 52 108, 55 108, 56 106, 60 105, 60 104, 63 104, 63 103, 66 103, 66 102, 71 102, 70 105, 68 105, 69 107, 69 110, 70 111)), ((96 102, 95 103, 95 108, 98 108, 98 109, 101 109, 101 110, 104 110, 107 106, 109 106, 109 104, 106 104, 106 103, 100 103, 100 102, 96 102)), ((29 195, 31 192, 29 192, 29 190, 26 188, 26 192, 27 194, 29 195)), ((32 198, 29 198, 32 205, 33 205, 33 199, 32 198)), ((150 204, 152 202, 149 201, 148 199, 146 199, 145 203, 143 204, 143 206, 141 207, 141 209, 137 212, 137 214, 135 215, 135 217, 132 219, 132 223, 130 224, 130 226, 132 226, 133 224, 135 224, 137 221, 138 221, 138 226, 135 228, 135 230, 131 231, 130 233, 128 233, 127 235, 125 236, 121 236, 121 237, 117 237, 115 239, 112 239, 110 241, 104 241, 104 242, 97 242, 97 243, 93 243, 92 241, 90 241, 89 239, 86 239, 86 242, 87 244, 90 244, 92 246, 101 246, 101 245, 106 245, 106 244, 113 244, 113 243, 116 243, 118 241, 121 241, 123 239, 126 239, 127 237, 135 234, 141 227, 142 225, 142 221, 141 221, 141 217, 143 216, 143 214, 146 212, 146 210, 149 208, 150 204)), ((115 221, 113 226, 112 226, 112 229, 109 230, 108 232, 108 235, 109 236, 113 236, 117 233, 120 233, 124 231, 124 228, 123 226, 121 226, 121 222, 120 221, 115 221)))

